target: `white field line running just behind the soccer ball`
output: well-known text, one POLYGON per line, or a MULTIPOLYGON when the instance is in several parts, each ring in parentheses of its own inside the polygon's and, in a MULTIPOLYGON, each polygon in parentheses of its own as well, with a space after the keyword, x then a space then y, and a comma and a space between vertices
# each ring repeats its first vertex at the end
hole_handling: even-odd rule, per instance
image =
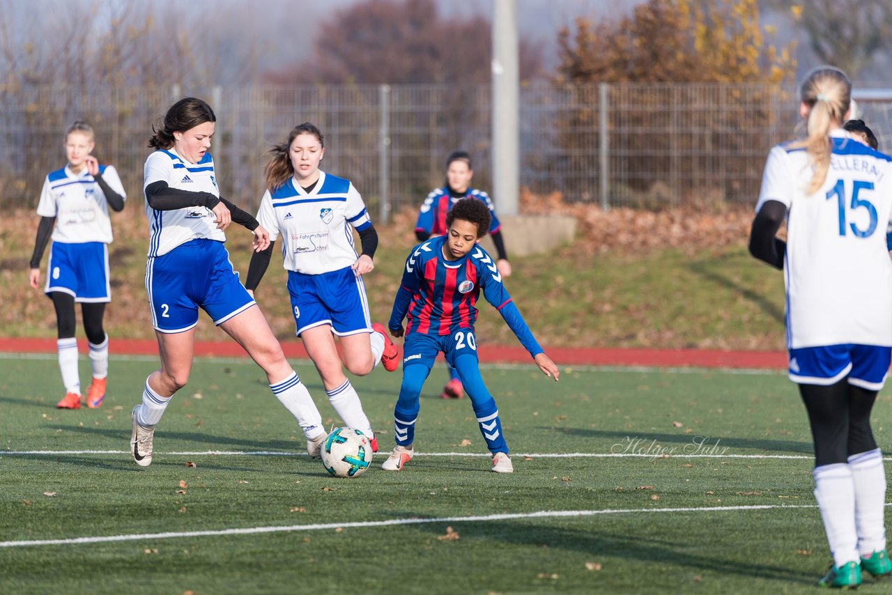
MULTIPOLYGON (((127 455, 129 450, 0 450, 0 457, 16 457, 26 455, 127 455)), ((284 452, 277 450, 171 450, 162 451, 162 455, 179 457, 306 457, 306 452, 284 452)), ((378 452, 377 457, 388 455, 378 452)), ((490 457, 488 452, 416 452, 415 457, 490 457)), ((514 452, 512 457, 530 457, 532 459, 814 459, 809 455, 760 455, 760 454, 654 454, 639 452, 514 452)), ((892 460, 884 457, 883 460, 892 460)))

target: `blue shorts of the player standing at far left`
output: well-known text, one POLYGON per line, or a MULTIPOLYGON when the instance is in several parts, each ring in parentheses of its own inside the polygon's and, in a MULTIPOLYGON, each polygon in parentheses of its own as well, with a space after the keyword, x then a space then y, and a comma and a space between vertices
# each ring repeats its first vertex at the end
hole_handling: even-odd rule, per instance
POLYGON ((108 244, 54 242, 44 289, 53 292, 70 293, 75 302, 111 302, 108 244))

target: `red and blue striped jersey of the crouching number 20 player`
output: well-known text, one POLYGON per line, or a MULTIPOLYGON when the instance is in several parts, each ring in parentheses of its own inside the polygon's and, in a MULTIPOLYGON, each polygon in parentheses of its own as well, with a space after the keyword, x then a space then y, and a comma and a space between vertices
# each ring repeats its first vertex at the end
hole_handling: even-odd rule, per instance
POLYGON ((388 326, 401 328, 403 318, 408 317, 407 335, 473 331, 477 319, 475 303, 483 291, 483 297, 499 310, 530 355, 541 353, 539 343, 502 284, 495 260, 479 245, 458 260, 446 260, 443 244, 447 239, 435 237, 409 252, 388 326))

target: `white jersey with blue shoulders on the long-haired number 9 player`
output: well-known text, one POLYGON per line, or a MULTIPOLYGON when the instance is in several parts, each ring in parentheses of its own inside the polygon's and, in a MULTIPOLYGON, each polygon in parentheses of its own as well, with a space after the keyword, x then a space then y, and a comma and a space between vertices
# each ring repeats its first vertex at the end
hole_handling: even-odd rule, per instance
POLYGON ((319 171, 311 192, 294 178, 267 190, 257 213, 269 239, 282 237, 285 269, 318 275, 349 267, 359 258, 353 244, 357 231, 372 225, 362 196, 350 180, 319 171))

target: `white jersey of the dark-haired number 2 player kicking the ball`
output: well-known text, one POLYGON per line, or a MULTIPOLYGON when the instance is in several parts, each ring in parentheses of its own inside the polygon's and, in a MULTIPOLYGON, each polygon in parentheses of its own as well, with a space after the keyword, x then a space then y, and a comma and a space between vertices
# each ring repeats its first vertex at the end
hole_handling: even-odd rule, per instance
MULTIPOLYGON (((211 153, 204 153, 202 161, 191 163, 173 149, 155 151, 145 160, 144 180, 144 191, 153 182, 162 181, 171 188, 220 195, 211 153)), ((226 235, 217 228, 214 212, 207 207, 156 211, 146 200, 145 216, 149 219, 150 257, 166 254, 194 239, 226 242, 226 235)))

